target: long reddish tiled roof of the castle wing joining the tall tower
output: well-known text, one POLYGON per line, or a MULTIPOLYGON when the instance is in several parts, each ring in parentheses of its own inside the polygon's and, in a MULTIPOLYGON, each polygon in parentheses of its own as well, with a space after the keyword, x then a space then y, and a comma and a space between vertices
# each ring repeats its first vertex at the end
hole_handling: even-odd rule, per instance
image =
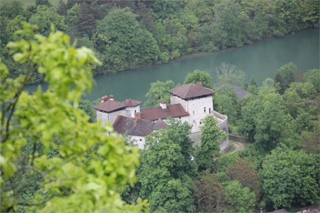
POLYGON ((141 109, 140 111, 143 113, 141 118, 145 120, 158 120, 159 118, 165 119, 168 117, 182 117, 189 115, 189 113, 184 110, 181 104, 167 105, 166 109, 154 107, 141 109))

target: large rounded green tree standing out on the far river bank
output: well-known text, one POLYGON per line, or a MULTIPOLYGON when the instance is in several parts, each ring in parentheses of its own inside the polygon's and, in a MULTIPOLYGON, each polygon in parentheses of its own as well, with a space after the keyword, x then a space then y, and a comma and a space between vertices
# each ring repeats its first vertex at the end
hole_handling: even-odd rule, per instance
POLYGON ((98 22, 95 45, 104 64, 100 73, 151 64, 159 54, 159 47, 152 34, 128 8, 113 9, 98 22))

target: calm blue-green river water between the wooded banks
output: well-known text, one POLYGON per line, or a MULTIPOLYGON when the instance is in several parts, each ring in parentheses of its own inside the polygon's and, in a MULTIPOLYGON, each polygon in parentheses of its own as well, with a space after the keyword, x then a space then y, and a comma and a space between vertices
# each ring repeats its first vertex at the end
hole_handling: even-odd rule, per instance
MULTIPOLYGON (((308 29, 241 48, 188 55, 161 65, 96 76, 93 91, 85 95, 84 99, 96 100, 104 95, 113 95, 117 101, 129 98, 145 101, 145 94, 152 82, 171 79, 175 83, 182 83, 185 76, 195 69, 207 70, 216 82, 214 69, 221 62, 234 64, 243 70, 246 82, 254 77, 262 85, 266 78, 273 78, 276 69, 283 64, 293 62, 298 71, 305 71, 319 68, 319 58, 319 29, 308 29)), ((46 88, 45 84, 42 85, 46 88)), ((27 89, 35 91, 36 87, 37 85, 30 85, 27 89)))

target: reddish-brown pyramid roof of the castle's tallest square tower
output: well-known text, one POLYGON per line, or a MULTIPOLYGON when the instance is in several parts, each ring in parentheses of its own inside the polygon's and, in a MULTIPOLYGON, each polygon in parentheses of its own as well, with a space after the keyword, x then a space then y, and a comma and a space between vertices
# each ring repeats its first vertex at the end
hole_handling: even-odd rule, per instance
POLYGON ((197 84, 186 84, 181 87, 177 87, 169 90, 170 93, 176 95, 182 99, 194 98, 198 96, 211 95, 216 93, 215 91, 202 87, 197 84))

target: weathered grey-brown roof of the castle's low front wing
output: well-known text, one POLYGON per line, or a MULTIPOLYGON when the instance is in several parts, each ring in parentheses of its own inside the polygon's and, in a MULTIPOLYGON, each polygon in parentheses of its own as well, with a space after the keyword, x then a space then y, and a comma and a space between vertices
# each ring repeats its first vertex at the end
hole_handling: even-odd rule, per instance
POLYGON ((135 121, 135 118, 117 115, 112 126, 119 134, 127 132, 130 135, 147 136, 152 132, 153 121, 143 119, 135 121))

